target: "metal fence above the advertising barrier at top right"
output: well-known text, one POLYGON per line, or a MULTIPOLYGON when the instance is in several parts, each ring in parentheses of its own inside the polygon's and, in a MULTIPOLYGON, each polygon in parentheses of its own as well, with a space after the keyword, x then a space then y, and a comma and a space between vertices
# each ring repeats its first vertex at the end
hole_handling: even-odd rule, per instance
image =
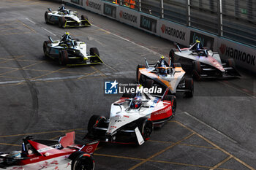
POLYGON ((255 0, 115 0, 112 2, 256 47, 255 0))

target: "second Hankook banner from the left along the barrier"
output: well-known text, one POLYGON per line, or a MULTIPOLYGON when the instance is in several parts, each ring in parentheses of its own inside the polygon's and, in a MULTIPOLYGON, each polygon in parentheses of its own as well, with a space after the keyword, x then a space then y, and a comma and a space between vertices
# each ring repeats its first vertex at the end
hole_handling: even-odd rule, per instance
POLYGON ((126 23, 129 26, 140 27, 140 14, 134 9, 120 8, 117 9, 117 20, 121 23, 126 23))

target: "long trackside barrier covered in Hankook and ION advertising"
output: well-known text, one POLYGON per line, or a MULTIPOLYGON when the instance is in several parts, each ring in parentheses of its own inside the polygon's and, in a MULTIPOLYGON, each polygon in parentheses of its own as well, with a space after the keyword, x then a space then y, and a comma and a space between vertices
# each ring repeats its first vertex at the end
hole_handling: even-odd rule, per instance
POLYGON ((173 23, 170 20, 138 12, 135 9, 119 6, 108 1, 101 0, 64 0, 70 4, 83 7, 86 10, 104 15, 129 26, 134 26, 143 31, 155 34, 172 42, 189 46, 199 39, 203 46, 217 51, 222 59, 233 58, 236 65, 256 73, 256 48, 225 39, 221 36, 209 34, 195 28, 173 23))

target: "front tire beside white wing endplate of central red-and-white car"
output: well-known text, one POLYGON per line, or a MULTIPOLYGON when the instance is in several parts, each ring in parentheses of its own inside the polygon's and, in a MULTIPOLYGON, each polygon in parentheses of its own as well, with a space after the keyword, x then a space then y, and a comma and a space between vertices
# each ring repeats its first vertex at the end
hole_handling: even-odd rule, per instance
POLYGON ((146 141, 150 138, 154 127, 151 119, 147 117, 140 117, 138 120, 138 128, 143 139, 146 141))

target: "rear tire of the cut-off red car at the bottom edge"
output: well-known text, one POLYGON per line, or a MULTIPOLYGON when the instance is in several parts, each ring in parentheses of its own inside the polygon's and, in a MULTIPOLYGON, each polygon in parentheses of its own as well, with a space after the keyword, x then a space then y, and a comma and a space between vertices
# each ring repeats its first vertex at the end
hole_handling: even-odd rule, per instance
POLYGON ((71 155, 69 155, 69 159, 72 160, 72 170, 94 170, 94 158, 92 158, 89 153, 81 151, 73 152, 71 155))

